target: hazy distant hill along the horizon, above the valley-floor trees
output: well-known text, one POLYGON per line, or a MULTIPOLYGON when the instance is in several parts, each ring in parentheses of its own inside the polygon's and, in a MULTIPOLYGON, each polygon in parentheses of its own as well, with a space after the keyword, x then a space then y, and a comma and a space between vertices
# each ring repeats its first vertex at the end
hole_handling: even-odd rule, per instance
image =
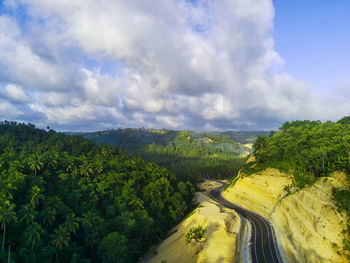
MULTIPOLYGON (((211 134, 198 131, 173 131, 156 129, 117 129, 91 133, 81 133, 81 136, 99 144, 111 144, 126 149, 130 154, 146 152, 167 152, 186 156, 210 156, 227 154, 238 157, 249 151, 231 138, 231 134, 211 134)), ((232 137, 234 137, 233 135, 232 137)), ((236 135, 241 141, 248 141, 254 135, 236 135)))

